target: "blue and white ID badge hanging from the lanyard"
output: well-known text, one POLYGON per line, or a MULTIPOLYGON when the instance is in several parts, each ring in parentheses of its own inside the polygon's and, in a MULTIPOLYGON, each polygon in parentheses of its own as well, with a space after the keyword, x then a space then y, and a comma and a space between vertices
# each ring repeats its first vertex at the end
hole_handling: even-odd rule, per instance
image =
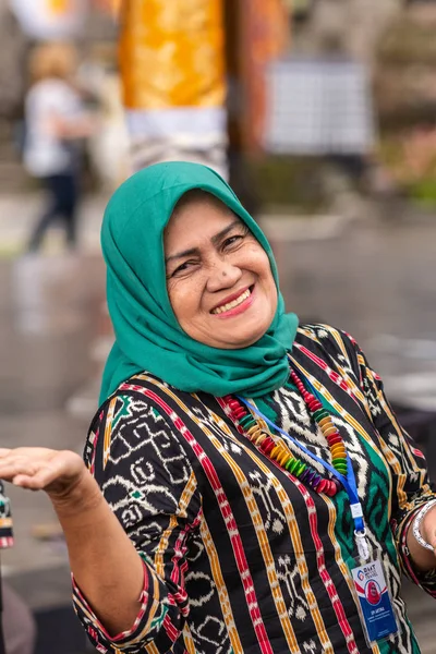
POLYGON ((366 561, 353 568, 351 573, 370 643, 397 633, 398 625, 380 561, 366 561))

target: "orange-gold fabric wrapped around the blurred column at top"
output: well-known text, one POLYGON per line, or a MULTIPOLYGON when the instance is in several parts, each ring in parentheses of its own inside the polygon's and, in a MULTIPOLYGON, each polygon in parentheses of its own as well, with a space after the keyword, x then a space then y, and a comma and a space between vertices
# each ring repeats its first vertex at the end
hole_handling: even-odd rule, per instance
POLYGON ((222 0, 124 0, 120 68, 128 109, 222 106, 222 0))

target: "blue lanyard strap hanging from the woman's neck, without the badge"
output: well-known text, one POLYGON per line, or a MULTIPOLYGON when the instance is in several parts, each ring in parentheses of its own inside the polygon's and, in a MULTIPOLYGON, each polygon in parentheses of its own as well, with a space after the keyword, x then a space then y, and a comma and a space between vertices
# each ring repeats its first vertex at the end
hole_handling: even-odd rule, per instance
MULTIPOLYGON (((245 404, 245 407, 251 409, 255 414, 257 414, 262 420, 264 420, 270 427, 272 427, 272 429, 275 429, 275 432, 279 432, 282 436, 284 436, 284 438, 287 440, 289 440, 293 445, 296 445, 296 447, 299 447, 301 450, 303 450, 303 452, 305 452, 307 455, 307 457, 310 457, 311 459, 320 463, 340 482, 340 484, 347 491, 347 494, 350 499, 351 514, 352 514, 352 518, 354 520, 354 525, 355 525, 354 533, 358 537, 362 538, 366 533, 365 532, 365 523, 363 521, 363 511, 362 511, 362 505, 359 499, 355 474, 354 474, 353 467, 351 464, 351 459, 350 459, 349 453, 347 452, 347 476, 343 476, 343 474, 340 474, 337 470, 335 470, 335 468, 332 465, 327 463, 327 461, 324 461, 324 459, 320 459, 319 457, 317 457, 316 455, 311 452, 311 450, 308 450, 306 447, 304 447, 304 445, 302 445, 295 438, 290 436, 287 432, 284 432, 284 429, 282 429, 278 425, 276 425, 272 421, 269 420, 269 417, 264 415, 262 413, 262 411, 259 411, 256 407, 254 407, 254 404, 251 404, 245 398, 242 398, 240 396, 237 396, 237 397, 241 402, 243 402, 245 404)), ((359 541, 358 541, 358 546, 359 546, 359 541)))

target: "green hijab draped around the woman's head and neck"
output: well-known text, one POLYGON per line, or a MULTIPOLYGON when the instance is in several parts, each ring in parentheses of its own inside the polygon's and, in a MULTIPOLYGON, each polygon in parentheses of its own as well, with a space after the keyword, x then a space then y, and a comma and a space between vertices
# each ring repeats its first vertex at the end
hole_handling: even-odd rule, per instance
POLYGON ((116 342, 106 363, 100 402, 134 374, 147 371, 187 392, 216 397, 259 397, 288 378, 287 352, 298 318, 278 306, 267 332, 239 350, 211 348, 189 337, 172 312, 167 293, 164 230, 180 197, 202 189, 218 197, 250 228, 268 254, 270 245, 230 186, 198 164, 157 164, 136 172, 112 195, 101 228, 107 264, 107 299, 116 342))

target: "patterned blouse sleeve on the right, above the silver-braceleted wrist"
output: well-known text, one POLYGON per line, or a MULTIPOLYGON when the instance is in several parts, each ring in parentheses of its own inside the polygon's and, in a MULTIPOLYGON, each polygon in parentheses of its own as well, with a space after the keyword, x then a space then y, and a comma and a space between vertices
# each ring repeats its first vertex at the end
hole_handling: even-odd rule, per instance
POLYGON ((413 583, 436 597, 436 569, 426 573, 417 571, 407 547, 408 530, 415 513, 423 505, 436 499, 428 480, 425 457, 399 424, 386 398, 380 377, 371 368, 356 342, 349 336, 347 339, 354 350, 360 387, 392 475, 390 524, 401 568, 413 583))

